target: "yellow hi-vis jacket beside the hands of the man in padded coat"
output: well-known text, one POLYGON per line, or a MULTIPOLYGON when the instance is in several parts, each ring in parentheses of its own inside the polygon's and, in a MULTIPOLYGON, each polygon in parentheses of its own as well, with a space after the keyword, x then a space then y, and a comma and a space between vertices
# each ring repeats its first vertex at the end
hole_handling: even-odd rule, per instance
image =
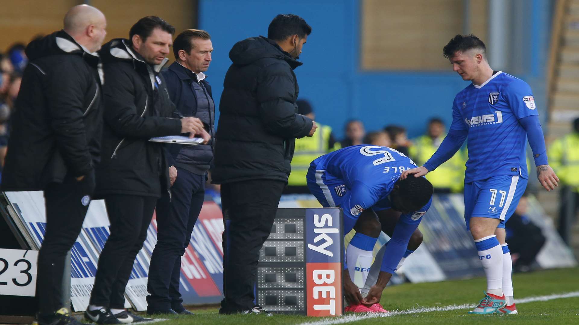
POLYGON ((294 158, 291 161, 291 173, 288 178, 288 186, 306 186, 307 169, 317 157, 340 149, 340 143, 334 147, 329 146, 329 136, 332 128, 328 125, 318 124, 318 129, 313 136, 305 136, 295 140, 294 158))

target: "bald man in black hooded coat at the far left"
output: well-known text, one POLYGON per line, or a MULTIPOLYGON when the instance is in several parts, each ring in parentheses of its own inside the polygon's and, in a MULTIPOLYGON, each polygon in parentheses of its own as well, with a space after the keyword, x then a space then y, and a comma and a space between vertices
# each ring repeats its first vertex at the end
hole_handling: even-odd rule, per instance
POLYGON ((10 132, 2 191, 43 190, 46 232, 38 254, 38 324, 80 324, 63 306, 64 261, 94 190, 102 129, 98 9, 69 10, 64 28, 32 41, 10 132))

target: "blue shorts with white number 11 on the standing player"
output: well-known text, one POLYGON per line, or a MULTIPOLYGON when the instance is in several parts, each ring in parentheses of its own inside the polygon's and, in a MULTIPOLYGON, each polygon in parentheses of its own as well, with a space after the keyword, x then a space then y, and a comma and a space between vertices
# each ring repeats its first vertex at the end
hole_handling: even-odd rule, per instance
POLYGON ((487 217, 501 220, 497 228, 515 212, 527 180, 519 175, 500 175, 464 184, 464 221, 470 230, 471 217, 487 217))

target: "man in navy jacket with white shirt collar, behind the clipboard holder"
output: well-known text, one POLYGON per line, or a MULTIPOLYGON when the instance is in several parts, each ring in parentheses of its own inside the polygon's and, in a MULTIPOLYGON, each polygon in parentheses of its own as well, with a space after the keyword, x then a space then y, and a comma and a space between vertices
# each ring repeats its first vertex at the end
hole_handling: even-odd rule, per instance
MULTIPOLYGON (((186 29, 175 38, 175 62, 161 74, 169 98, 182 116, 195 116, 213 135, 215 104, 211 86, 203 73, 211 62, 211 37, 206 31, 186 29)), ((181 256, 205 198, 207 171, 213 161, 213 143, 198 146, 166 145, 170 154, 171 198, 164 193, 157 201, 157 244, 151 257, 147 289, 147 312, 191 314, 179 293, 181 256)))

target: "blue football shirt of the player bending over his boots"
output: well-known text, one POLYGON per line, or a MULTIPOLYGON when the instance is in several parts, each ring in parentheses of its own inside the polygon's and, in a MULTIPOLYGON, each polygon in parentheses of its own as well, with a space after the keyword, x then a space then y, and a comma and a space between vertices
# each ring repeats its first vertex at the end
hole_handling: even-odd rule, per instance
MULTIPOLYGON (((415 167, 416 164, 410 158, 397 150, 368 145, 350 146, 325 154, 316 158, 310 165, 310 169, 316 172, 331 175, 331 182, 341 183, 347 187, 345 194, 339 203, 336 201, 336 204, 342 208, 345 218, 354 220, 357 220, 365 209, 379 211, 392 208, 390 193, 394 189, 394 184, 400 179, 403 171, 415 167)), ((320 180, 310 179, 312 173, 308 175, 309 186, 310 184, 318 186, 320 180)), ((325 178, 328 179, 328 175, 325 175, 325 178)), ((321 180, 323 182, 323 178, 321 180)), ((392 238, 384 250, 381 271, 394 274, 406 252, 410 237, 431 204, 432 197, 419 210, 400 216, 392 238)))

